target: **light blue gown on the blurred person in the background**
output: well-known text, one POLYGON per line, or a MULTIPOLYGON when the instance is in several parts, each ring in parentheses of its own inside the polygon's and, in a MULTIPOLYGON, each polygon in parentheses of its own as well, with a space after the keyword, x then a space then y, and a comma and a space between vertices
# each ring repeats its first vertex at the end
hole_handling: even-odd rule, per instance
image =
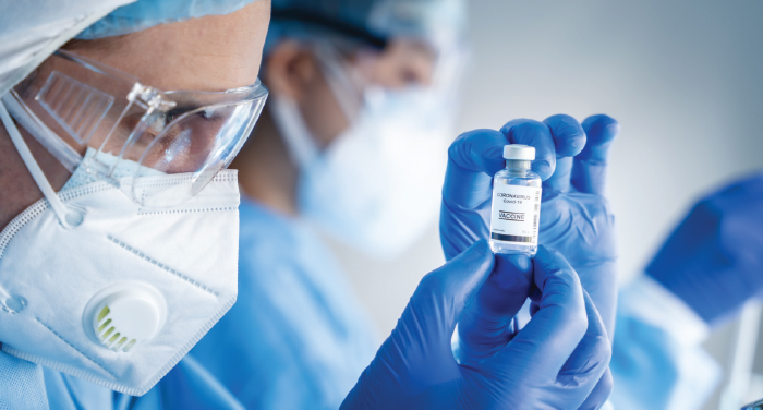
POLYGON ((300 219, 242 197, 239 298, 191 357, 246 408, 337 409, 378 349, 338 263, 300 219))

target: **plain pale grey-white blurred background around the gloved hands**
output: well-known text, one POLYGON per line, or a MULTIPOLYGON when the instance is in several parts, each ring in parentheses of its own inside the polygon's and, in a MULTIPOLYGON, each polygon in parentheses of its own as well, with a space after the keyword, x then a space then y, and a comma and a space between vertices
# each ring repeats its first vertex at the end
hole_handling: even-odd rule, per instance
MULTIPOLYGON (((700 195, 763 168, 763 1, 481 0, 469 13, 459 132, 560 112, 620 121, 608 196, 623 280, 700 195)), ((334 245, 380 337, 444 262, 434 226, 396 261, 334 245)), ((736 326, 706 342, 725 366, 736 326)), ((763 386, 752 394, 763 397, 763 386)), ((717 406, 716 393, 706 408, 717 406)))

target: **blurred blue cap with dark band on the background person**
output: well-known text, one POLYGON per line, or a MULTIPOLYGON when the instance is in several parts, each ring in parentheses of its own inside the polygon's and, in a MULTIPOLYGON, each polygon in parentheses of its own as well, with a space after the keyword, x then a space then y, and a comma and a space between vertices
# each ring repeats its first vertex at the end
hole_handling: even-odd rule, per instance
POLYGON ((392 37, 459 37, 463 0, 272 0, 265 53, 283 37, 339 35, 376 47, 392 37))

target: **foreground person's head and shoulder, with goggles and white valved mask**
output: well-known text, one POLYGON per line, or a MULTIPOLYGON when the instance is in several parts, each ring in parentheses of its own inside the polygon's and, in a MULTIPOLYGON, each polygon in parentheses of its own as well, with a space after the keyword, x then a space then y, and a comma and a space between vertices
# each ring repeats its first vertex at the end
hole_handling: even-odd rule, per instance
POLYGON ((4 408, 143 395, 235 301, 223 169, 267 96, 269 3, 124 3, 2 4, 4 408))

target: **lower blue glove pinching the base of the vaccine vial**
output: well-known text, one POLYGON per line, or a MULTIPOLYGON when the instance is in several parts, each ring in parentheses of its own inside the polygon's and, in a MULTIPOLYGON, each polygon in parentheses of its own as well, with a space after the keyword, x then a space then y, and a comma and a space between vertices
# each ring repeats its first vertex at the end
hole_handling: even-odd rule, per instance
MULTIPOLYGON (((607 367, 609 341, 564 257, 544 249, 538 261, 538 311, 509 343, 469 364, 456 362, 450 340, 494 270, 494 255, 479 241, 425 276, 342 409, 578 408, 607 367)), ((520 275, 498 267, 512 270, 501 277, 520 275)), ((514 304, 528 292, 513 294, 514 304)))

